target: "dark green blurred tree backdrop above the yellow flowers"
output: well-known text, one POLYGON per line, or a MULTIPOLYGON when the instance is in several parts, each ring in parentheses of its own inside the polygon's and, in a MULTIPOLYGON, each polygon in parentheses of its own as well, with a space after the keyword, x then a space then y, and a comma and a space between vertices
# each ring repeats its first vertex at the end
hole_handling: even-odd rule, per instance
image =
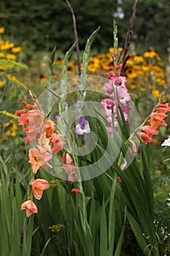
MULTIPOLYGON (((80 49, 89 35, 101 26, 93 43, 93 53, 105 53, 113 45, 112 23, 118 26, 123 47, 134 0, 70 0, 77 18, 80 49)), ((131 48, 141 54, 150 46, 167 60, 170 45, 170 1, 139 0, 131 48)), ((64 0, 1 0, 0 23, 5 36, 23 48, 23 59, 35 52, 49 52, 55 45, 61 53, 74 42, 72 15, 64 0)))

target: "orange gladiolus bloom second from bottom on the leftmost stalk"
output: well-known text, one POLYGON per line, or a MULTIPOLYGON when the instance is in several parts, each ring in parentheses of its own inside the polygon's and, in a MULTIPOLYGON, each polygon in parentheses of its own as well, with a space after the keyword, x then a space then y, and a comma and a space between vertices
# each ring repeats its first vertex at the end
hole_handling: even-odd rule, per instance
POLYGON ((40 200, 42 198, 43 191, 48 189, 50 184, 45 179, 36 178, 36 180, 31 183, 31 187, 34 197, 40 200))

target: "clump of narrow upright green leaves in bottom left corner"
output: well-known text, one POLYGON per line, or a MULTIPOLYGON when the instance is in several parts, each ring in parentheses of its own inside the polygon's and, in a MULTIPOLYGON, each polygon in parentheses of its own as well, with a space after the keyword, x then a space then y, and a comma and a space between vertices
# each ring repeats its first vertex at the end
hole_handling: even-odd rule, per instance
POLYGON ((22 187, 16 169, 15 179, 11 176, 14 167, 10 158, 5 162, 0 158, 0 254, 29 256, 34 216, 28 220, 20 211, 22 187))

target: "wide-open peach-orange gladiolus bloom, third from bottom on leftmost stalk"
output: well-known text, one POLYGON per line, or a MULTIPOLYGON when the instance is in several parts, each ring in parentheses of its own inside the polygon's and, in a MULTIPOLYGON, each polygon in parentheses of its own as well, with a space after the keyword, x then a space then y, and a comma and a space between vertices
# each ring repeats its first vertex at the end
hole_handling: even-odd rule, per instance
POLYGON ((32 171, 34 174, 37 173, 39 167, 52 168, 52 166, 47 162, 51 159, 52 154, 48 152, 41 152, 36 148, 30 148, 28 156, 29 163, 32 165, 32 171))

